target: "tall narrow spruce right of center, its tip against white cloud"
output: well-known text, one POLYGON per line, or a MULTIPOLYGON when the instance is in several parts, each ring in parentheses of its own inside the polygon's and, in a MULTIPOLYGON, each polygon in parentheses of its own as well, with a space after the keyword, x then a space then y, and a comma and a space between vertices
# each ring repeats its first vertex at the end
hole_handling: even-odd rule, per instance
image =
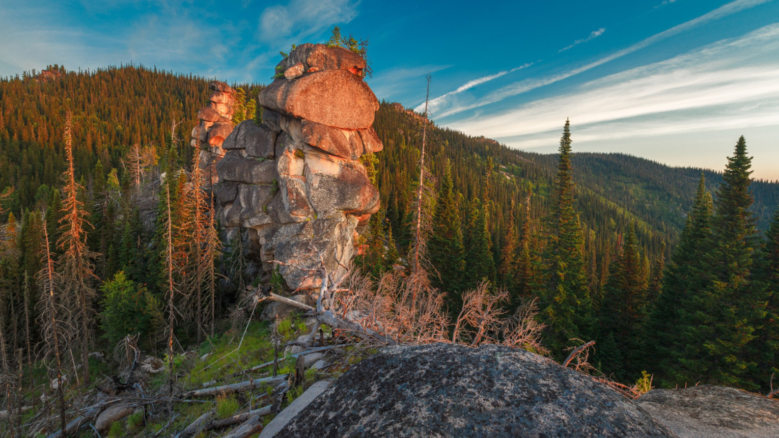
POLYGON ((571 167, 570 122, 562 130, 557 176, 546 221, 544 308, 552 353, 560 356, 569 340, 590 334, 592 316, 587 275, 584 270, 584 236, 576 211, 576 188, 571 167))

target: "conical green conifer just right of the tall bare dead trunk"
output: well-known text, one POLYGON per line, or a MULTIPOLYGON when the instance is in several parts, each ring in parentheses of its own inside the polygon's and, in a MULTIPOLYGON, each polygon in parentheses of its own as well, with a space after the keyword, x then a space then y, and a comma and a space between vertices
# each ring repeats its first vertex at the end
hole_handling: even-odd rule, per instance
POLYGON ((428 254, 438 276, 433 285, 448 296, 462 291, 464 271, 463 232, 460 224, 460 208, 452 183, 452 166, 446 161, 438 202, 433 214, 432 233, 428 242, 428 254))

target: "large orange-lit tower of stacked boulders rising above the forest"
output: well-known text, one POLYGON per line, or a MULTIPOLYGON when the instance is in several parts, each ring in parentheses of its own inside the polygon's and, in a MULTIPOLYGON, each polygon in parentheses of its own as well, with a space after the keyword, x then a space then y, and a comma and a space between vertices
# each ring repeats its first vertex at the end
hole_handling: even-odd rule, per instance
POLYGON ((263 271, 278 267, 291 290, 318 288, 322 263, 343 272, 379 210, 359 160, 382 150, 364 69, 347 49, 298 46, 259 94, 263 121, 241 122, 221 145, 213 192, 222 224, 228 235, 244 231, 263 271))

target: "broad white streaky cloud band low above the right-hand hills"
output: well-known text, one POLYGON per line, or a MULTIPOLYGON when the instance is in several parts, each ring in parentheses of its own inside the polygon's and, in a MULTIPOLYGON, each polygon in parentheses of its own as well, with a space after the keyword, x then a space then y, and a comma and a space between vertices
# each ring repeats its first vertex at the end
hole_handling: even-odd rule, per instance
POLYGON ((566 117, 577 141, 779 125, 779 24, 452 127, 536 147, 566 117))

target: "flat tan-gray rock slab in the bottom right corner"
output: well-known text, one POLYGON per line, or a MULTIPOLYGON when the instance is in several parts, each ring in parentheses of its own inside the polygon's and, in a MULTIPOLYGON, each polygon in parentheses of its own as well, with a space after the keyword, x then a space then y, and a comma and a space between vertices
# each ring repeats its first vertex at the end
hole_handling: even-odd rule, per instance
POLYGON ((636 401, 682 438, 776 438, 779 401, 713 385, 656 389, 636 401))

